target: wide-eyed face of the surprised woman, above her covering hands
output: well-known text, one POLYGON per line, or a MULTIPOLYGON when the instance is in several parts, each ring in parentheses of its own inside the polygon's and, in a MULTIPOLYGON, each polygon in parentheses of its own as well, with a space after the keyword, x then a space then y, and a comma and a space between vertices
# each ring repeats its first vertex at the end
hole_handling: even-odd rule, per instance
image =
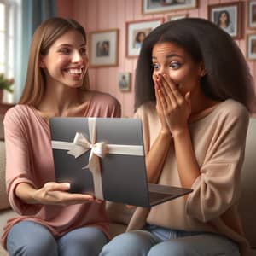
POLYGON ((196 62, 177 44, 159 43, 152 50, 153 80, 158 74, 168 75, 183 96, 187 92, 201 95, 200 79, 205 74, 201 62, 196 62), (198 94, 199 93, 199 94, 198 94))

